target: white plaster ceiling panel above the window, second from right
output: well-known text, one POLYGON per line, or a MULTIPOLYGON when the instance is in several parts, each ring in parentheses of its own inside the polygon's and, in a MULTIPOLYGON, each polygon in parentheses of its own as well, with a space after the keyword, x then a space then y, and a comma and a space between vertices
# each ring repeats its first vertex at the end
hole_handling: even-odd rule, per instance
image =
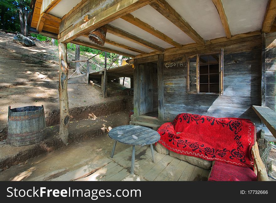
MULTIPOLYGON (((225 37, 220 16, 212 0, 166 0, 204 39, 225 37)), ((231 2, 232 0, 226 0, 231 2)), ((238 0, 243 1, 243 0, 238 0)))

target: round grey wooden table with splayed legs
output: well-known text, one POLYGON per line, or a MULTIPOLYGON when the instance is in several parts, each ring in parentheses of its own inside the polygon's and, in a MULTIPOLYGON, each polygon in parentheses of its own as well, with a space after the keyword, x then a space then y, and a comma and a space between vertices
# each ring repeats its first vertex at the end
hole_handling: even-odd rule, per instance
POLYGON ((157 131, 145 126, 128 125, 115 127, 109 131, 108 135, 114 140, 111 158, 113 158, 117 142, 132 145, 130 174, 134 174, 135 145, 150 145, 152 161, 155 163, 152 144, 160 140, 160 135, 157 131))

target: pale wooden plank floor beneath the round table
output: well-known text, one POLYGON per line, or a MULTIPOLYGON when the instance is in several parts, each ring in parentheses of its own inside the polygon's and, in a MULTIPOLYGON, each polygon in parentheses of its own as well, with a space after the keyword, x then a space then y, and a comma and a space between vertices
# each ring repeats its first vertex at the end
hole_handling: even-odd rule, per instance
MULTIPOLYGON (((114 155, 110 162, 105 160, 102 168, 77 181, 207 181, 210 170, 199 168, 154 150, 147 146, 135 147, 135 170, 130 174, 132 146, 114 155)), ((87 172, 86 172, 87 173, 87 172)))

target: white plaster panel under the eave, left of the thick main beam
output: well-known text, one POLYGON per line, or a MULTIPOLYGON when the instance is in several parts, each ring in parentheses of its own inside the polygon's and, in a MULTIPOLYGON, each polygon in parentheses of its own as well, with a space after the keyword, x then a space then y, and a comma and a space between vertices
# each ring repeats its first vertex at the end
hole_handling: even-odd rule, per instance
POLYGON ((52 10, 50 10, 50 14, 62 18, 66 13, 72 10, 78 3, 82 0, 61 0, 52 10), (70 2, 70 3, 68 3, 70 2))

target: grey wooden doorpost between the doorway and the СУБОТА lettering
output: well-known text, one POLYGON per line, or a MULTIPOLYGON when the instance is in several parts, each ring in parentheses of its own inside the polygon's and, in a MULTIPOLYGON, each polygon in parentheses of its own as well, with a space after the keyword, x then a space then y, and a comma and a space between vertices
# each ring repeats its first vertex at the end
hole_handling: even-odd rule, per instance
POLYGON ((163 82, 163 54, 158 55, 157 87, 158 87, 158 119, 164 120, 164 82, 163 82))

